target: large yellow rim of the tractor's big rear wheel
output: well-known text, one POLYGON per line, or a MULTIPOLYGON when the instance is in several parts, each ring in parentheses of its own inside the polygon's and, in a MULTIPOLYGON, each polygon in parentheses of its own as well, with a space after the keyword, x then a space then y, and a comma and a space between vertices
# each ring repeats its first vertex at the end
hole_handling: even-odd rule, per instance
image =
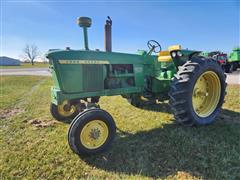
POLYGON ((203 73, 193 89, 192 104, 195 113, 200 117, 211 115, 216 109, 221 95, 221 84, 218 75, 213 71, 203 73))

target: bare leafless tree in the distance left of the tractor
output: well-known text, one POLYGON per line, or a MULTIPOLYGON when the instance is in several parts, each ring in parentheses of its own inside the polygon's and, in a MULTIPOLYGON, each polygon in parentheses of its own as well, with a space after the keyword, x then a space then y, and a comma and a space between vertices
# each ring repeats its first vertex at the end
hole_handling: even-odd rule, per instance
POLYGON ((38 47, 34 44, 32 45, 27 44, 23 49, 23 53, 24 60, 30 61, 32 65, 34 65, 34 60, 40 55, 38 47))

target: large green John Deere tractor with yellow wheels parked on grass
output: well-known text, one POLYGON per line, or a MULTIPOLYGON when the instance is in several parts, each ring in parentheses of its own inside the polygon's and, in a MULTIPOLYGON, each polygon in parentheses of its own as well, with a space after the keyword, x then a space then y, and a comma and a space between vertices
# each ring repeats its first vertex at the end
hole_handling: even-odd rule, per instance
POLYGON ((101 96, 121 95, 136 107, 169 100, 175 120, 182 125, 207 125, 216 119, 226 89, 226 77, 216 61, 180 45, 162 51, 155 40, 148 41, 148 51, 138 54, 112 52, 109 17, 106 51, 90 50, 87 28, 91 22, 88 17, 78 18, 84 50, 49 50, 46 55, 54 81, 50 111, 57 120, 73 119, 68 131, 73 152, 99 153, 113 141, 116 125, 100 108, 101 96))

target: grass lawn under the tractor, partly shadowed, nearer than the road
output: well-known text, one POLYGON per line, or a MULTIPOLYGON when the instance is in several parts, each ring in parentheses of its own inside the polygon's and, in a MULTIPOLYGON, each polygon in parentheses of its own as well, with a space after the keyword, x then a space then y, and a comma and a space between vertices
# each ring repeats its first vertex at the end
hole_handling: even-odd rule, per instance
POLYGON ((228 86, 222 114, 206 127, 176 125, 167 103, 138 109, 102 97, 117 136, 107 152, 79 158, 68 147, 69 124, 49 113, 51 84, 1 77, 1 179, 240 179, 240 86, 228 86))

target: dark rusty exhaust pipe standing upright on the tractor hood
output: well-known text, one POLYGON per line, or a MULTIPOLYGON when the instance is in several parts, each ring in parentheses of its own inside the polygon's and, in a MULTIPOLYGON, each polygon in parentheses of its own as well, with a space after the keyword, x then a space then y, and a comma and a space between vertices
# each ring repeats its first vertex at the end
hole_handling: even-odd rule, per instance
POLYGON ((112 52, 112 20, 108 16, 105 24, 105 36, 104 36, 104 44, 105 51, 112 52))

